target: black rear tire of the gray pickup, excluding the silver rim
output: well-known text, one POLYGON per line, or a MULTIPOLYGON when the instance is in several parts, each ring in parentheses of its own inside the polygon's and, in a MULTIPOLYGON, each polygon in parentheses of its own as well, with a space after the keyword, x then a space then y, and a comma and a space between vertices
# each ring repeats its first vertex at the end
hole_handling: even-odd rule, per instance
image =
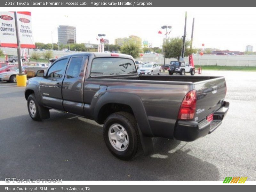
MULTIPOLYGON (((111 130, 110 130, 111 131, 111 130)), ((140 136, 134 116, 128 112, 116 112, 108 116, 103 126, 103 137, 109 151, 119 159, 129 160, 134 157, 140 144, 140 136), (109 129, 113 124, 119 124, 124 127, 129 138, 129 143, 124 151, 119 151, 111 144, 108 136, 109 129)))

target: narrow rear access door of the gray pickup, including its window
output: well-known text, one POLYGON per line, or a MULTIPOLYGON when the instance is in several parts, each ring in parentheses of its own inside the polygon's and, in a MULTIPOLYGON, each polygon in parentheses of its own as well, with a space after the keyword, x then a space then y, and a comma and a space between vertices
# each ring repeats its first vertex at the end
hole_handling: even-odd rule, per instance
POLYGON ((62 84, 63 107, 65 111, 84 116, 83 84, 88 56, 72 56, 62 84))

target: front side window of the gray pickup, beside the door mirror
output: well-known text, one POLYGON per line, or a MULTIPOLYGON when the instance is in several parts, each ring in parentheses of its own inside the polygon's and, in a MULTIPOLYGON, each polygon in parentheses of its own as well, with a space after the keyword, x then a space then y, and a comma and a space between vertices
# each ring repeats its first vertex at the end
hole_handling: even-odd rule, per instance
POLYGON ((47 77, 61 78, 65 73, 67 60, 63 59, 54 63, 49 69, 47 77))

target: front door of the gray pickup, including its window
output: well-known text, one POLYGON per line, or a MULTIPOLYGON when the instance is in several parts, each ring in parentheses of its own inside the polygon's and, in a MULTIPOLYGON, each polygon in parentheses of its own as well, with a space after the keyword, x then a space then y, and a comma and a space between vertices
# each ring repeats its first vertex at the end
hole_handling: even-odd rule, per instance
POLYGON ((43 104, 47 107, 64 110, 62 105, 62 81, 67 68, 68 58, 53 63, 46 77, 39 84, 43 104))

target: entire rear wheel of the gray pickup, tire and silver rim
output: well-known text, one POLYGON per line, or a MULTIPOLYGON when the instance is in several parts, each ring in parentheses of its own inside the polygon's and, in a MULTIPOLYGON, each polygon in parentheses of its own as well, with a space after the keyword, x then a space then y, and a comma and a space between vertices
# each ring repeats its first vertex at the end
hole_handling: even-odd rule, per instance
POLYGON ((119 159, 131 159, 138 151, 140 136, 136 120, 130 113, 116 112, 108 116, 103 137, 109 151, 119 159))

